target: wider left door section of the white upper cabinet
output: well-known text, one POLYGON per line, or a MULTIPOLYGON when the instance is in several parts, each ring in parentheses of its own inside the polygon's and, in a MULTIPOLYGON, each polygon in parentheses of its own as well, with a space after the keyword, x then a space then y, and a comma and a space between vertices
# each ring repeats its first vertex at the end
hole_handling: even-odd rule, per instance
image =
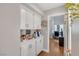
POLYGON ((25 9, 21 10, 21 29, 33 29, 33 13, 25 9))

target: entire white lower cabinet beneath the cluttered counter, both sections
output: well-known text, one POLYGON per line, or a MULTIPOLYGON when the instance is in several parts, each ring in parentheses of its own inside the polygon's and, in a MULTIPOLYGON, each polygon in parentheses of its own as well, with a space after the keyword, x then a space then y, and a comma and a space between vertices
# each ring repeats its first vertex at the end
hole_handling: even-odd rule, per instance
POLYGON ((21 43, 21 56, 36 56, 42 51, 42 39, 27 40, 21 43))

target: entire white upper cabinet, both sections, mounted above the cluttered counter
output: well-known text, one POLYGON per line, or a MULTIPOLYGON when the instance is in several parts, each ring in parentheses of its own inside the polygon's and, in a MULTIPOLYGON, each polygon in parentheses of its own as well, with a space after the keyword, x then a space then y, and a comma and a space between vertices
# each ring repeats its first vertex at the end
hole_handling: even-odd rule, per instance
POLYGON ((41 29, 41 16, 27 9, 21 9, 21 29, 41 29))

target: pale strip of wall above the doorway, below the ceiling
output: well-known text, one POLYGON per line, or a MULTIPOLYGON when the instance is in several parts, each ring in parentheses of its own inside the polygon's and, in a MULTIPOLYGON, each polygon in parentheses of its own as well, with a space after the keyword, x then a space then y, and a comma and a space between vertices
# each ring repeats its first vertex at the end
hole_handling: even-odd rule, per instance
POLYGON ((45 11, 45 15, 47 15, 47 16, 49 16, 49 15, 57 16, 57 15, 60 15, 60 14, 64 14, 66 12, 67 12, 67 10, 64 8, 64 6, 60 6, 60 7, 53 8, 53 9, 45 11))

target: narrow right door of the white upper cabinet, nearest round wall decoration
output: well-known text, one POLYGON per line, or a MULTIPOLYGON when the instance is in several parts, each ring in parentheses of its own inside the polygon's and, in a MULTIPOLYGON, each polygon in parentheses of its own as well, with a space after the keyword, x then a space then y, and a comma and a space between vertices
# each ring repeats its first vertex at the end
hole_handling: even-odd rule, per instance
POLYGON ((34 29, 41 29, 41 16, 34 14, 34 29))

